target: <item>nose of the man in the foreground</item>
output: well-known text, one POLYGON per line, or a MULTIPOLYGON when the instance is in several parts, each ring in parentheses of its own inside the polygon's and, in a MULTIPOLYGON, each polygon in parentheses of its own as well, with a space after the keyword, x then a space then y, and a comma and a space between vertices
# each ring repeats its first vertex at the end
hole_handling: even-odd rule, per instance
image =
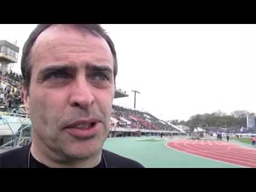
POLYGON ((80 107, 87 109, 94 103, 94 96, 92 92, 92 87, 86 81, 86 78, 78 77, 76 81, 73 82, 70 89, 70 106, 80 107))

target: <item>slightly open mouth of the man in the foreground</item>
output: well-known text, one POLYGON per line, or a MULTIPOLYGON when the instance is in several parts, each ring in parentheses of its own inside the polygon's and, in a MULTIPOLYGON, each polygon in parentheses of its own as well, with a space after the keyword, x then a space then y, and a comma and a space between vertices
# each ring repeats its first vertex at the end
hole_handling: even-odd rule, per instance
POLYGON ((65 130, 75 138, 90 138, 97 134, 99 121, 77 121, 65 127, 65 130))

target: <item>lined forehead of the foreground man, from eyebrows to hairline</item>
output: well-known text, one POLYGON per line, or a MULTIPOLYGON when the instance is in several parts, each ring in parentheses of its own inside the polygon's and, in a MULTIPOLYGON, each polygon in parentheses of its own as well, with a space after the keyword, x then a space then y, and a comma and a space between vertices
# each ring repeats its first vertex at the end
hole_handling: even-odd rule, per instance
MULTIPOLYGON (((108 43, 101 36, 71 26, 51 26, 36 39, 31 52, 31 63, 44 61, 83 60, 114 63, 108 43)), ((113 65, 112 65, 113 66, 113 65)))

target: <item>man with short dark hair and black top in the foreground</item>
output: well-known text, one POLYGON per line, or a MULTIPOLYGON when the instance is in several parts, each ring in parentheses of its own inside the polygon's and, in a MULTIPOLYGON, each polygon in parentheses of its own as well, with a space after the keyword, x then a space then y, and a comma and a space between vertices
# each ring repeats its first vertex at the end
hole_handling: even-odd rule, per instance
POLYGON ((143 167, 102 150, 117 59, 100 25, 38 25, 21 70, 33 141, 0 155, 0 167, 143 167))

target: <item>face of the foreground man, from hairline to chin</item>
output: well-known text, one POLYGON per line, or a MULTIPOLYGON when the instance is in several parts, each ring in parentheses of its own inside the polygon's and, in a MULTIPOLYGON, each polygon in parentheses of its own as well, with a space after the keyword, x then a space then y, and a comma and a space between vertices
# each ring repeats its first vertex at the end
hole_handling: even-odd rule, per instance
POLYGON ((33 142, 54 151, 57 158, 100 153, 115 93, 114 60, 107 42, 68 26, 53 26, 38 36, 31 53, 24 100, 33 142))

